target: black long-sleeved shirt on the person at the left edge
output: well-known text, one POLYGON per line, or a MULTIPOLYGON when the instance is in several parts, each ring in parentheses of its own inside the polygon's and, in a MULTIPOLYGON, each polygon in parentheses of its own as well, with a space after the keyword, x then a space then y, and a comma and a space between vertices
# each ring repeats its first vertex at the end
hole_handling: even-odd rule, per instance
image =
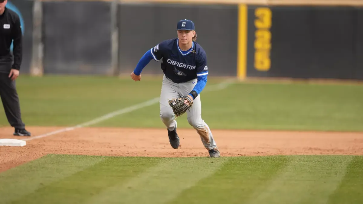
POLYGON ((19 16, 5 7, 4 13, 0 15, 0 73, 9 73, 10 69, 20 70, 22 40, 19 16), (14 59, 10 52, 12 41, 14 59))

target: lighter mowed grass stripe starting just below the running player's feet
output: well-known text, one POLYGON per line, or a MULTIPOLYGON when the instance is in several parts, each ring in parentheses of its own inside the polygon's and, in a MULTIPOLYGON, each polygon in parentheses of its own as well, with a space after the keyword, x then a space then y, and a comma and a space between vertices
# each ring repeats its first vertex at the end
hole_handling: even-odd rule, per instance
POLYGON ((86 204, 162 204, 174 199, 200 179, 213 175, 229 158, 167 158, 158 166, 135 176, 127 183, 103 189, 86 204))

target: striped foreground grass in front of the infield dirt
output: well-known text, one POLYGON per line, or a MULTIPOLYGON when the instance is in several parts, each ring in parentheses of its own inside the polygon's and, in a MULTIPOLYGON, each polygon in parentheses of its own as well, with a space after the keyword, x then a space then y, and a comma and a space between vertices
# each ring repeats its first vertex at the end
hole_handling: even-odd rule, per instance
POLYGON ((357 204, 362 156, 47 155, 0 174, 0 203, 357 204))

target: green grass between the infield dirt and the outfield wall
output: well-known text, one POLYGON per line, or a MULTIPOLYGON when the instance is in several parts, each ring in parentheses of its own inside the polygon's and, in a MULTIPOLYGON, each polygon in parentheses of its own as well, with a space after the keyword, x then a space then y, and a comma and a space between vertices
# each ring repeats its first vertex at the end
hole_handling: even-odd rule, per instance
MULTIPOLYGON (((222 79, 209 79, 212 87, 222 79)), ((162 77, 22 76, 17 79, 27 126, 73 126, 159 97, 162 77), (127 87, 129 86, 129 87, 127 87)), ((202 117, 212 129, 363 131, 362 85, 234 83, 203 91, 202 117)), ((9 126, 3 109, 0 126, 9 126)), ((159 103, 94 126, 164 127, 159 103)), ((191 128, 186 116, 178 127, 191 128)))

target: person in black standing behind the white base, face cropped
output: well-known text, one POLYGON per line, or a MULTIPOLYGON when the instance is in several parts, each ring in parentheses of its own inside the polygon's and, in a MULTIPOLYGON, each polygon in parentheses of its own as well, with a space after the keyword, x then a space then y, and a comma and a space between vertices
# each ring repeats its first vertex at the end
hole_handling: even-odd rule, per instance
POLYGON ((7 2, 0 0, 0 96, 6 117, 15 128, 13 135, 31 136, 21 120, 19 97, 15 87, 22 60, 23 34, 20 18, 5 7, 7 2), (14 58, 10 52, 12 41, 14 58))

